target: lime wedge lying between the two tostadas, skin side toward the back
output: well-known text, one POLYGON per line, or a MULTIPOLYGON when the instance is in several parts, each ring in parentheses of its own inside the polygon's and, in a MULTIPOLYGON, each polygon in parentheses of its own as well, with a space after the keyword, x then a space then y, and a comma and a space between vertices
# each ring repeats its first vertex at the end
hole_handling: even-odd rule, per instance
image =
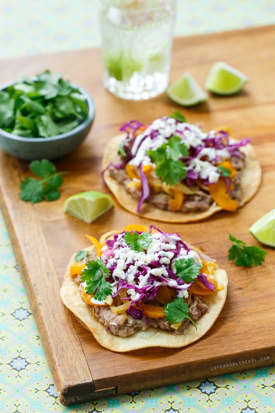
POLYGON ((98 191, 80 192, 66 199, 64 212, 90 224, 113 207, 109 195, 98 191))

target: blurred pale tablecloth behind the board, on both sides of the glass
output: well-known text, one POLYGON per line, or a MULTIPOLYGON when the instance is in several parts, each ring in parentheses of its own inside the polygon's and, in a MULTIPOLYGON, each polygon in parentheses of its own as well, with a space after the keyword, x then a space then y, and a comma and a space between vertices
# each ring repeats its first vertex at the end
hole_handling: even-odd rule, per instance
MULTIPOLYGON (((0 59, 100 45, 100 0, 0 0, 0 59)), ((175 36, 274 23, 274 0, 177 0, 175 36)))

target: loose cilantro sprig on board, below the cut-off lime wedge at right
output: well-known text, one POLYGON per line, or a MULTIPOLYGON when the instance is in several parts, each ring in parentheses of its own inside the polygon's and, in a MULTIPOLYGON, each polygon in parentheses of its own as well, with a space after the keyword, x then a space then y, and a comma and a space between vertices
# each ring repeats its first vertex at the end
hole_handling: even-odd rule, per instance
POLYGON ((244 241, 237 239, 230 232, 229 240, 232 241, 233 245, 228 250, 228 260, 234 261, 237 266, 242 267, 262 265, 267 254, 266 251, 256 245, 247 246, 244 241))

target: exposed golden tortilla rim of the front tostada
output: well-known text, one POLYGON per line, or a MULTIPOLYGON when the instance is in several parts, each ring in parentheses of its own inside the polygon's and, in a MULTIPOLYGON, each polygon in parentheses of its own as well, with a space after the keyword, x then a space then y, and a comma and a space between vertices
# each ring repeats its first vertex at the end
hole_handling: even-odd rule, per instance
MULTIPOLYGON (((191 248, 195 249, 194 247, 191 248)), ((90 246, 86 250, 92 252, 94 247, 90 246)), ((195 250, 197 251, 197 249, 195 250)), ((96 341, 112 351, 124 352, 145 347, 179 348, 191 344, 202 337, 214 324, 226 299, 227 274, 223 269, 217 267, 215 269, 215 276, 217 283, 223 285, 223 289, 203 297, 203 302, 208 305, 208 309, 196 321, 197 330, 192 323, 189 323, 184 329, 183 334, 175 334, 173 331, 149 327, 144 331, 137 331, 127 337, 120 337, 106 331, 106 327, 93 315, 92 306, 82 299, 77 283, 69 274, 70 266, 75 262, 74 256, 70 258, 65 272, 60 289, 61 299, 81 324, 92 332, 96 341)))

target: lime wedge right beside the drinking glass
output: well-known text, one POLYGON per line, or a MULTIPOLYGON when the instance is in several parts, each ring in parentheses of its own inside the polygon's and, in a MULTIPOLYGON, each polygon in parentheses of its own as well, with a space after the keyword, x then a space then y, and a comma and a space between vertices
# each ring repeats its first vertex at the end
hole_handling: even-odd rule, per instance
POLYGON ((207 99, 206 93, 189 73, 184 73, 168 86, 166 93, 173 102, 182 106, 197 105, 207 99))

